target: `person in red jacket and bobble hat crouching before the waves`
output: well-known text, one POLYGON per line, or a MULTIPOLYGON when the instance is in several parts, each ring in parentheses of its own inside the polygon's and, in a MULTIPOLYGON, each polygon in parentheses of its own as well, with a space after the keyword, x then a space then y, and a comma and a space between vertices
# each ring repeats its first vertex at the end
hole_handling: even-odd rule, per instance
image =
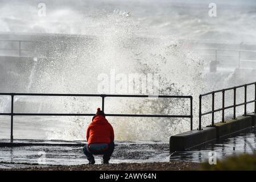
POLYGON ((86 139, 87 144, 82 151, 89 160, 89 164, 95 163, 93 155, 103 155, 103 163, 109 164, 114 151, 114 130, 100 108, 97 109, 97 113, 87 127, 86 139))

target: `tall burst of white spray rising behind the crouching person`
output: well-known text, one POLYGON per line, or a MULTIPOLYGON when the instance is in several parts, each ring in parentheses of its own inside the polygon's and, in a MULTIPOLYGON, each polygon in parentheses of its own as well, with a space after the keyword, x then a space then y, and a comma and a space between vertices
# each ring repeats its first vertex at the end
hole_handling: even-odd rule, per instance
MULTIPOLYGON (((47 42, 43 49, 51 52, 48 56, 53 59, 34 61, 28 77, 27 91, 32 86, 35 92, 40 93, 97 93, 97 76, 100 73, 108 74, 111 69, 123 74, 161 73, 159 94, 197 94, 203 87, 203 63, 184 49, 175 38, 140 38, 135 35, 140 27, 132 16, 108 14, 98 22, 100 28, 94 30, 94 34, 98 36, 73 43, 71 48, 59 49, 60 42, 54 39, 47 42), (48 49, 50 45, 56 47, 55 51, 48 49), (187 74, 180 75, 184 69, 187 74)), ((92 105, 77 102, 73 98, 63 98, 61 102, 62 106, 53 105, 52 110, 63 108, 71 113, 86 113, 89 108, 94 112, 101 104, 96 101, 92 108, 92 105)), ((182 106, 185 102, 164 101, 162 104, 162 101, 112 100, 108 101, 106 112, 143 114, 151 111, 172 114, 174 110, 170 108, 174 105, 182 106), (143 109, 143 106, 147 108, 143 109)), ((27 107, 29 108, 29 104, 27 107)), ((183 107, 176 110, 182 111, 183 107)), ((69 127, 64 132, 56 130, 48 133, 48 139, 84 139, 85 128, 90 119, 65 119, 70 121, 69 127)), ((179 119, 109 118, 109 121, 113 123, 117 140, 166 139, 168 135, 187 130, 189 126, 179 119)))

